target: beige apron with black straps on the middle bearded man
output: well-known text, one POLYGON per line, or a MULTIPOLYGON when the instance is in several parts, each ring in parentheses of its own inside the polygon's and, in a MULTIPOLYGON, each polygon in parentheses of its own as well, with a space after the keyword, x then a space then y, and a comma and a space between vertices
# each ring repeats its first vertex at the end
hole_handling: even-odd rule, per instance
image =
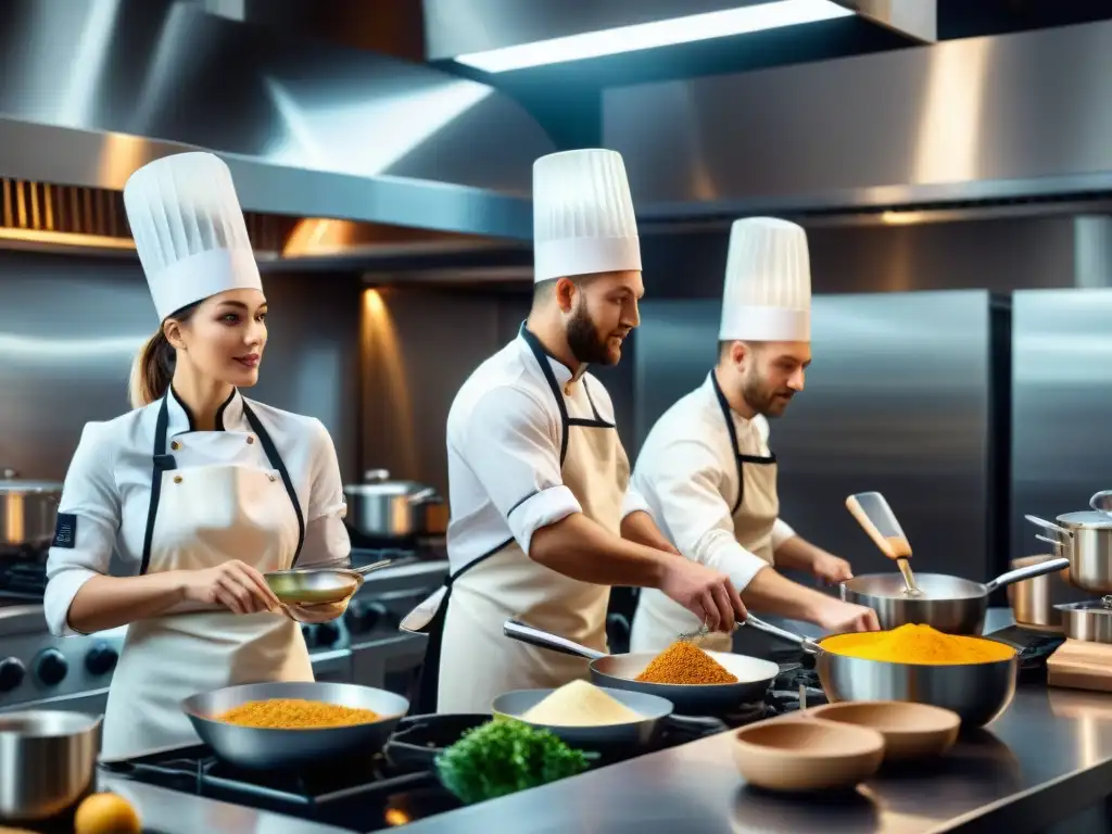
MULTIPOLYGON (((564 485, 584 515, 618 535, 629 460, 617 430, 599 417, 589 387, 592 414, 576 413, 579 407, 564 396, 539 342, 527 330, 523 335, 560 408, 564 485)), ((588 384, 580 379, 572 385, 588 384)), ((587 679, 587 661, 509 639, 503 625, 518 618, 605 652, 609 597, 609 586, 577 582, 544 567, 513 539, 479 556, 419 606, 435 608, 435 616, 425 631, 429 643, 413 712, 488 713, 505 692, 587 679)))

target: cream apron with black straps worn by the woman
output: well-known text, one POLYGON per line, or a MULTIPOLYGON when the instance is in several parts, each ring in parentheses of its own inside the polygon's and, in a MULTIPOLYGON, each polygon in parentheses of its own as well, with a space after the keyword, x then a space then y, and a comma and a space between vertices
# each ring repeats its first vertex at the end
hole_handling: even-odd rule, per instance
MULTIPOLYGON (((296 560, 305 537, 300 506, 270 436, 246 403, 244 413, 271 469, 239 465, 177 469, 166 454, 163 399, 141 573, 199 570, 229 559, 265 573, 288 568, 296 560)), ((185 443, 205 448, 209 459, 229 459, 231 445, 255 441, 244 431, 185 437, 185 443)), ((190 695, 265 681, 312 681, 305 639, 294 620, 281 614, 239 616, 214 606, 191 608, 128 626, 108 694, 105 758, 198 743, 181 712, 181 701, 190 695)))

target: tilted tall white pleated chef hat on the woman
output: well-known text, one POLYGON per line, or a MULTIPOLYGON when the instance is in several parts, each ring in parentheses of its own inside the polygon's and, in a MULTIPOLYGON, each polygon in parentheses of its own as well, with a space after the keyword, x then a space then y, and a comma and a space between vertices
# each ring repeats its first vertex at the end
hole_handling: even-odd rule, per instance
POLYGON ((123 205, 159 319, 229 289, 262 289, 231 171, 211 153, 149 162, 123 205))

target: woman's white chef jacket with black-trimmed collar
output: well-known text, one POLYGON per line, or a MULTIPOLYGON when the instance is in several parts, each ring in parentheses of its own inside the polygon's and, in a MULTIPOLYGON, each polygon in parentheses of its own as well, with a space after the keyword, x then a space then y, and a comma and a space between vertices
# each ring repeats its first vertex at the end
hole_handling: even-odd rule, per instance
MULTIPOLYGON (((247 401, 274 440, 301 505, 305 544, 298 566, 348 557, 351 547, 344 526, 347 506, 336 447, 328 430, 315 417, 247 401)), ((123 576, 139 573, 160 405, 161 400, 156 400, 108 423, 86 424, 58 506, 60 524, 71 525, 67 542, 72 547, 51 547, 47 560, 43 605, 51 634, 77 634, 67 623, 70 604, 85 583, 109 573, 113 552, 118 566, 113 566, 112 573, 123 576)), ((206 459, 189 440, 190 433, 196 430, 192 416, 172 391, 168 416, 168 451, 177 459, 179 469, 208 464, 270 469, 262 444, 254 441, 235 445, 231 459, 206 459)), ((248 433, 254 439, 239 391, 234 391, 221 406, 217 428, 248 433)), ((275 493, 275 500, 289 504, 290 498, 280 489, 275 493)))

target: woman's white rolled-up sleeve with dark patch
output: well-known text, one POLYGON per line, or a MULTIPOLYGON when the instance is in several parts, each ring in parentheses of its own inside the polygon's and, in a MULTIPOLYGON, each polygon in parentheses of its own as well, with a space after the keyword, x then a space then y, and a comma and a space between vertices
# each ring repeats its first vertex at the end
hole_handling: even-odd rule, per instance
POLYGON ((81 433, 58 503, 58 529, 47 558, 42 598, 47 626, 56 637, 80 634, 70 628, 73 597, 93 576, 108 574, 120 528, 120 498, 112 474, 115 446, 102 424, 81 433))

